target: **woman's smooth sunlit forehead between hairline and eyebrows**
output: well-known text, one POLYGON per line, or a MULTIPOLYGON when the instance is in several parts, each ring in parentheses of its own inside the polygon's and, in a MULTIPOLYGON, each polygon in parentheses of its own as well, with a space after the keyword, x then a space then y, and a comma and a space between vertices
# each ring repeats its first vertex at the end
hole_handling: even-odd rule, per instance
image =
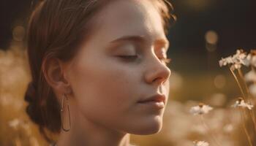
POLYGON ((111 1, 99 12, 96 22, 101 38, 109 41, 123 35, 165 38, 162 18, 151 0, 111 1))

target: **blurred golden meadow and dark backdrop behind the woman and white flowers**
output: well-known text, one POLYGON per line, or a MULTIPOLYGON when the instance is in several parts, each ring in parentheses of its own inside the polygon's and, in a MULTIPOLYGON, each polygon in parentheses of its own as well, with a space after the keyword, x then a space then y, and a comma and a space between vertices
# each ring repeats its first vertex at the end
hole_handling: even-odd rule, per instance
MULTIPOLYGON (((36 1, 34 1, 36 2, 36 1)), ((230 104, 241 96, 228 68, 218 61, 256 49, 255 0, 172 0, 178 18, 170 28, 168 55, 170 100, 159 134, 132 135, 140 146, 189 146, 195 140, 217 145, 249 145, 241 130, 238 112, 230 104), (211 104, 208 129, 189 114, 198 102, 211 104)), ((47 145, 37 126, 26 115, 23 95, 29 83, 29 66, 23 38, 31 0, 0 1, 0 145, 47 145)), ((247 71, 244 69, 245 72, 247 71)))

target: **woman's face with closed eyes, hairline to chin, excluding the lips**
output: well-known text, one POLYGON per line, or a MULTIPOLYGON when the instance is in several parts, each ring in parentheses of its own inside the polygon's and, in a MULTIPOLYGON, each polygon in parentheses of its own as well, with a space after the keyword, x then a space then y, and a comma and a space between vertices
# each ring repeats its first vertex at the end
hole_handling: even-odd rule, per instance
POLYGON ((98 28, 80 47, 69 70, 78 109, 108 128, 157 133, 165 108, 138 101, 169 94, 170 69, 162 59, 168 44, 159 12, 148 0, 118 0, 95 18, 98 28), (125 57, 129 55, 135 57, 125 57))

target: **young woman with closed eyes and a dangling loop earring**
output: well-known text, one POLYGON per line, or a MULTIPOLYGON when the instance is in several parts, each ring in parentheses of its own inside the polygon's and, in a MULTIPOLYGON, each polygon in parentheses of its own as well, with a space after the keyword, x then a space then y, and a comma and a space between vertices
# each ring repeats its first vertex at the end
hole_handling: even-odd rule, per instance
POLYGON ((45 0, 31 14, 26 112, 58 146, 156 134, 169 96, 164 0, 45 0))

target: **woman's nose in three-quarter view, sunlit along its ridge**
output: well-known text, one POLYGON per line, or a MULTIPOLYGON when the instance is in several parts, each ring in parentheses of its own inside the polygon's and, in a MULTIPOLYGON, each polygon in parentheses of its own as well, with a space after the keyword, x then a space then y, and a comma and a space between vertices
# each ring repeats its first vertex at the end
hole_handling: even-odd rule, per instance
POLYGON ((151 58, 151 61, 148 61, 147 66, 145 80, 150 84, 153 83, 161 85, 165 83, 171 75, 171 71, 168 66, 160 61, 156 56, 151 58))

